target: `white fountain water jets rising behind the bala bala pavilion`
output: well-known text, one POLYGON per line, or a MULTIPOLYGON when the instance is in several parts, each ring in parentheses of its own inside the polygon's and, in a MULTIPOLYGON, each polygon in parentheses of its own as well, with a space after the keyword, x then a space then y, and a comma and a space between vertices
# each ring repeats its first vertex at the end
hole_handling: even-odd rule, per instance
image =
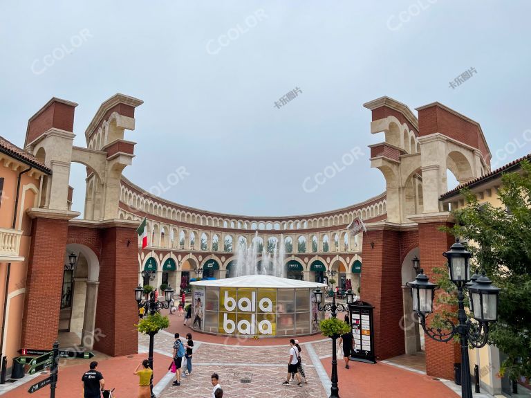
POLYGON ((236 277, 245 275, 271 275, 286 278, 286 246, 283 235, 279 244, 274 244, 272 251, 268 251, 268 242, 264 242, 259 253, 258 231, 254 234, 251 244, 244 240, 236 242, 236 277), (261 255, 260 255, 261 254, 261 255))

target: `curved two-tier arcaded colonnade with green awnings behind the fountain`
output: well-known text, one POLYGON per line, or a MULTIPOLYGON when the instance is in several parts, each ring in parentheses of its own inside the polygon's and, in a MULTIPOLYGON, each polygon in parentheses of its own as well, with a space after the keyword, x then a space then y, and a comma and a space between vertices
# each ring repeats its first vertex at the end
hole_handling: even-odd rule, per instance
MULTIPOLYGON (((386 219, 385 192, 347 208, 289 217, 248 217, 182 206, 151 195, 122 177, 120 219, 147 217, 148 246, 139 244, 139 281, 159 287, 178 287, 181 278, 230 278, 236 244, 257 242, 259 253, 272 251, 283 239, 288 278, 340 286, 351 280, 360 286, 362 233, 351 235, 346 226, 355 217, 386 219), (156 271, 142 280, 142 271, 156 271), (330 271, 335 271, 332 276, 330 271)), ((260 260, 260 257, 259 257, 260 260)))

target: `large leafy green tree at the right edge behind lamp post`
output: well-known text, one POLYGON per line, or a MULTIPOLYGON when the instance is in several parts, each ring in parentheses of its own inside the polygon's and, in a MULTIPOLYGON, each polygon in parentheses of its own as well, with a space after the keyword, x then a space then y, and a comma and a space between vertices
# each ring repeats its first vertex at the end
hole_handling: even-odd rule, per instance
POLYGON ((467 206, 453 212, 456 225, 448 230, 475 242, 468 245, 473 264, 502 289, 489 343, 507 354, 501 374, 511 380, 531 378, 531 164, 524 161, 521 168, 521 174, 502 177, 503 208, 461 191, 467 206))

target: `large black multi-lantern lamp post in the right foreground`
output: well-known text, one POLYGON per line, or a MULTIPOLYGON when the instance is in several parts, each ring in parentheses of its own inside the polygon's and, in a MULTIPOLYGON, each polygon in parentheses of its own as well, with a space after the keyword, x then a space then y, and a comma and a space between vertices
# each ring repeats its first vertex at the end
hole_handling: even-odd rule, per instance
POLYGON ((413 311, 420 318, 420 325, 424 332, 435 341, 446 343, 456 334, 460 338, 461 346, 461 397, 472 398, 472 381, 470 380, 470 363, 468 359, 468 343, 473 347, 481 348, 487 344, 489 336, 489 323, 498 318, 498 299, 500 290, 495 287, 483 272, 482 276, 469 277, 469 259, 472 256, 463 246, 456 241, 449 251, 443 253, 448 259, 450 280, 457 287, 458 300, 458 325, 445 319, 445 325, 449 332, 440 328, 428 327, 426 316, 433 312, 436 284, 429 282, 429 278, 422 270, 416 280, 409 282, 411 295, 413 296, 413 311), (469 282, 476 278, 476 282, 469 282), (470 309, 476 322, 467 319, 465 312, 465 295, 463 289, 469 291, 470 309))

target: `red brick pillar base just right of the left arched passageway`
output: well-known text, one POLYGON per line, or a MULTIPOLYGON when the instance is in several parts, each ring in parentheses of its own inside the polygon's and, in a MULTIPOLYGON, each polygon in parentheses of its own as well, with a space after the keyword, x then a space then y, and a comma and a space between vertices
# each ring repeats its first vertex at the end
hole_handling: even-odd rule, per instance
POLYGON ((95 327, 104 338, 94 350, 111 356, 138 352, 138 307, 134 291, 138 285, 138 247, 134 228, 102 230, 100 286, 97 293, 95 327), (127 240, 131 242, 127 246, 127 240))

